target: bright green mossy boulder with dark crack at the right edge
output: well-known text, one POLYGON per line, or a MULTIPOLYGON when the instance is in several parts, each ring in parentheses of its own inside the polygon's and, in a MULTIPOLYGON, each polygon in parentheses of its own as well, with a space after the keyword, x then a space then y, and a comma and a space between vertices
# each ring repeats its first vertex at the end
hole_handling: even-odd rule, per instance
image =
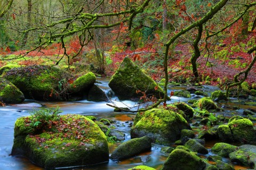
POLYGON ((253 142, 255 130, 252 122, 247 119, 234 119, 226 125, 220 125, 217 129, 219 139, 225 142, 253 142))

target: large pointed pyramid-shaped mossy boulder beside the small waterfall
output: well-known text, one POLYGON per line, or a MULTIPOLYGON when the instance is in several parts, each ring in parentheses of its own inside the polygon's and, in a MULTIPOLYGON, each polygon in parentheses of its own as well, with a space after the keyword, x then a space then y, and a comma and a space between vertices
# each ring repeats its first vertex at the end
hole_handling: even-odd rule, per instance
POLYGON ((164 98, 164 91, 156 82, 125 57, 116 73, 109 81, 109 87, 120 100, 139 99, 146 92, 147 96, 164 98), (141 92, 140 92, 141 91, 141 92))

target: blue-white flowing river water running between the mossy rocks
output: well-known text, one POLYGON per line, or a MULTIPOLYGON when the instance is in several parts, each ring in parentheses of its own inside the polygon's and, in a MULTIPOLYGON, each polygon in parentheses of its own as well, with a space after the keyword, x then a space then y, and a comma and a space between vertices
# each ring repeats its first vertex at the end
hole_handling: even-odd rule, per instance
MULTIPOLYGON (((109 92, 108 87, 108 79, 98 79, 100 83, 98 86, 104 90, 106 93, 109 92)), ((178 87, 172 88, 171 90, 179 90, 185 89, 186 87, 178 87)), ((187 101, 186 98, 178 98, 172 97, 171 102, 174 101, 187 101)), ((122 103, 115 101, 116 98, 111 100, 114 104, 119 107, 136 107, 137 104, 133 101, 123 101, 122 103)), ((112 107, 106 105, 106 102, 92 102, 87 100, 82 101, 74 101, 74 102, 43 102, 43 101, 35 101, 35 100, 25 100, 22 104, 19 105, 10 105, 6 107, 0 107, 0 170, 22 170, 22 169, 43 169, 31 163, 26 158, 21 157, 13 157, 11 156, 11 149, 13 145, 13 134, 14 134, 14 123, 18 117, 28 116, 30 115, 30 111, 34 109, 40 109, 41 107, 57 107, 60 106, 60 109, 63 111, 62 114, 81 114, 81 115, 93 115, 98 118, 110 118, 111 120, 116 120, 117 124, 119 124, 118 130, 121 130, 125 133, 125 141, 131 139, 130 137, 130 128, 129 121, 131 121, 132 117, 135 116, 135 113, 116 113, 114 112, 112 107)), ((111 103, 109 103, 111 104, 111 103)), ((228 113, 229 111, 227 111, 228 113)), ((109 143, 110 153, 118 146, 119 143, 109 143)), ((206 143, 207 147, 211 147, 214 145, 212 143, 206 143)), ((113 161, 109 160, 108 163, 96 165, 93 167, 83 167, 83 169, 87 170, 103 170, 103 169, 120 169, 126 170, 132 168, 137 165, 147 165, 150 167, 154 167, 156 169, 160 169, 165 162, 167 155, 161 152, 161 148, 163 146, 154 145, 151 148, 150 152, 143 153, 137 157, 133 157, 130 159, 126 159, 123 161, 113 161), (148 162, 142 162, 140 157, 149 155, 150 160, 148 162)), ((210 152, 211 155, 211 152, 210 152)), ((209 155, 205 155, 202 157, 207 157, 209 155)), ((229 160, 226 160, 229 162, 229 160)), ((73 168, 71 168, 73 169, 73 168)), ((77 168, 81 169, 81 168, 77 168)), ((246 167, 236 166, 236 169, 246 169, 246 167)))

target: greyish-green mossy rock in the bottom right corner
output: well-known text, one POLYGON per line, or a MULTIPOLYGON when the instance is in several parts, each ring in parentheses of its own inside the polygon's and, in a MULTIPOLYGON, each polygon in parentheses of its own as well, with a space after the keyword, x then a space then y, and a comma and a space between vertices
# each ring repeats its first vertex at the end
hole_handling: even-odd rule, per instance
POLYGON ((231 162, 238 163, 252 168, 256 167, 256 146, 242 145, 229 154, 231 162))

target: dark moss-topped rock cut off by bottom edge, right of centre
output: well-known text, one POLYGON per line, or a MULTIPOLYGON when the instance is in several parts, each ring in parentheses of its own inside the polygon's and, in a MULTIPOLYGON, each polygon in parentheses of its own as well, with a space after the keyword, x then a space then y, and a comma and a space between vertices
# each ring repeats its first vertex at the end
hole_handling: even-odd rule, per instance
POLYGON ((161 170, 202 170, 206 163, 193 152, 183 149, 174 149, 161 170))

